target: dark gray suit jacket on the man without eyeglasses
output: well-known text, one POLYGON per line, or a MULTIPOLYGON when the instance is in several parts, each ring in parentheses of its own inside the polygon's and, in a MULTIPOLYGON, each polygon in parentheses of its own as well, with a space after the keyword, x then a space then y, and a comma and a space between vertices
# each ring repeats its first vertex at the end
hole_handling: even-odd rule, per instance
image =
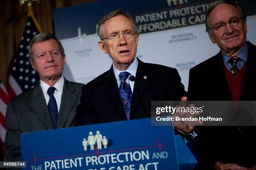
MULTIPOLYGON (((83 84, 64 81, 58 128, 69 127, 73 120, 83 84)), ((20 133, 52 130, 50 113, 40 85, 9 101, 6 111, 6 160, 21 160, 20 133)))

